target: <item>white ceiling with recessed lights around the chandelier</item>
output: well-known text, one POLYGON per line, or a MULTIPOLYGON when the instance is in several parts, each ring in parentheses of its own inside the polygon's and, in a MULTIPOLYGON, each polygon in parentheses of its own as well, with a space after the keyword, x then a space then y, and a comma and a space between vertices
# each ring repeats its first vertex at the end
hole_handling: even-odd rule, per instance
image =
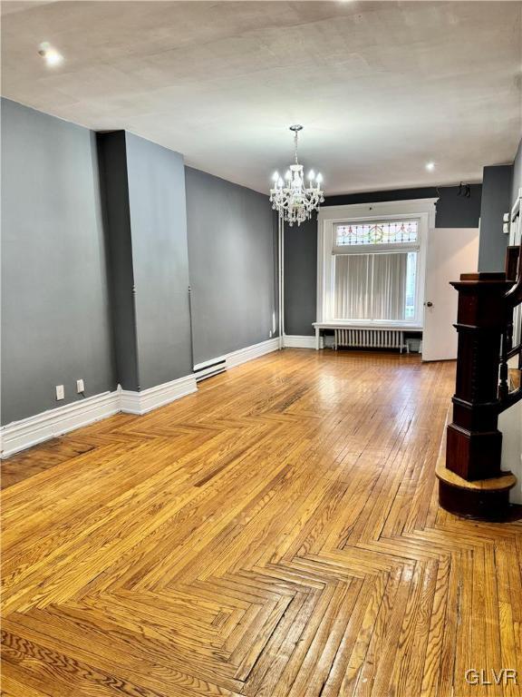
POLYGON ((480 181, 521 132, 520 2, 5 2, 2 93, 257 191, 480 181), (62 65, 47 67, 50 42, 62 65), (426 172, 425 162, 437 163, 426 172))

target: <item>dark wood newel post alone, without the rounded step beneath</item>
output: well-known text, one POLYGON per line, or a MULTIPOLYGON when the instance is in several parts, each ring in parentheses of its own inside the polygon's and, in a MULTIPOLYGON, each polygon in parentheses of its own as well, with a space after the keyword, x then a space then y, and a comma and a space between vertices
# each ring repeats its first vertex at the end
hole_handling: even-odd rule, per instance
POLYGON ((512 281, 505 273, 463 273, 451 285, 459 292, 459 349, 446 467, 468 481, 488 479, 500 472, 498 367, 512 281))

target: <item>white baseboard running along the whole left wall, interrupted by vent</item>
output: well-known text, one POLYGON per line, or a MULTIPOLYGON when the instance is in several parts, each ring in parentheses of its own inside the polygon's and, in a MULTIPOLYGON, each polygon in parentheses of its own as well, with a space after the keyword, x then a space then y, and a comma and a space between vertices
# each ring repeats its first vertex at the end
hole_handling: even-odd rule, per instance
MULTIPOLYGON (((227 360, 227 368, 234 368, 241 363, 246 363, 247 360, 275 351, 277 348, 279 348, 279 339, 268 339, 254 346, 228 353, 224 358, 227 360)), ((62 436, 64 433, 88 426, 94 421, 111 417, 119 412, 146 414, 152 409, 163 407, 175 399, 197 391, 196 376, 188 375, 140 392, 119 388, 114 392, 103 392, 101 395, 73 402, 73 404, 49 409, 34 417, 0 427, 1 456, 14 455, 27 447, 36 446, 45 440, 62 436)))

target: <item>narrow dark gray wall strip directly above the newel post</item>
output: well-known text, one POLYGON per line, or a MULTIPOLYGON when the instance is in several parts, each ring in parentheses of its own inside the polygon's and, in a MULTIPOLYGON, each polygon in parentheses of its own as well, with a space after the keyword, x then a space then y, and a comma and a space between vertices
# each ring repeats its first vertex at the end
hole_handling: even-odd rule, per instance
POLYGON ((484 167, 480 208, 478 270, 503 271, 506 262, 507 235, 503 231, 504 213, 511 210, 510 164, 484 167))

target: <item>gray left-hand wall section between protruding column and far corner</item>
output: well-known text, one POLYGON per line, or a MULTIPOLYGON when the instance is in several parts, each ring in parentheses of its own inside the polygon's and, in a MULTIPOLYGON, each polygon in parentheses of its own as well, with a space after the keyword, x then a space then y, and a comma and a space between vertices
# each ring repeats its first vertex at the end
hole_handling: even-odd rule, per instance
POLYGON ((268 197, 185 170, 195 364, 269 339, 275 217, 268 197))

